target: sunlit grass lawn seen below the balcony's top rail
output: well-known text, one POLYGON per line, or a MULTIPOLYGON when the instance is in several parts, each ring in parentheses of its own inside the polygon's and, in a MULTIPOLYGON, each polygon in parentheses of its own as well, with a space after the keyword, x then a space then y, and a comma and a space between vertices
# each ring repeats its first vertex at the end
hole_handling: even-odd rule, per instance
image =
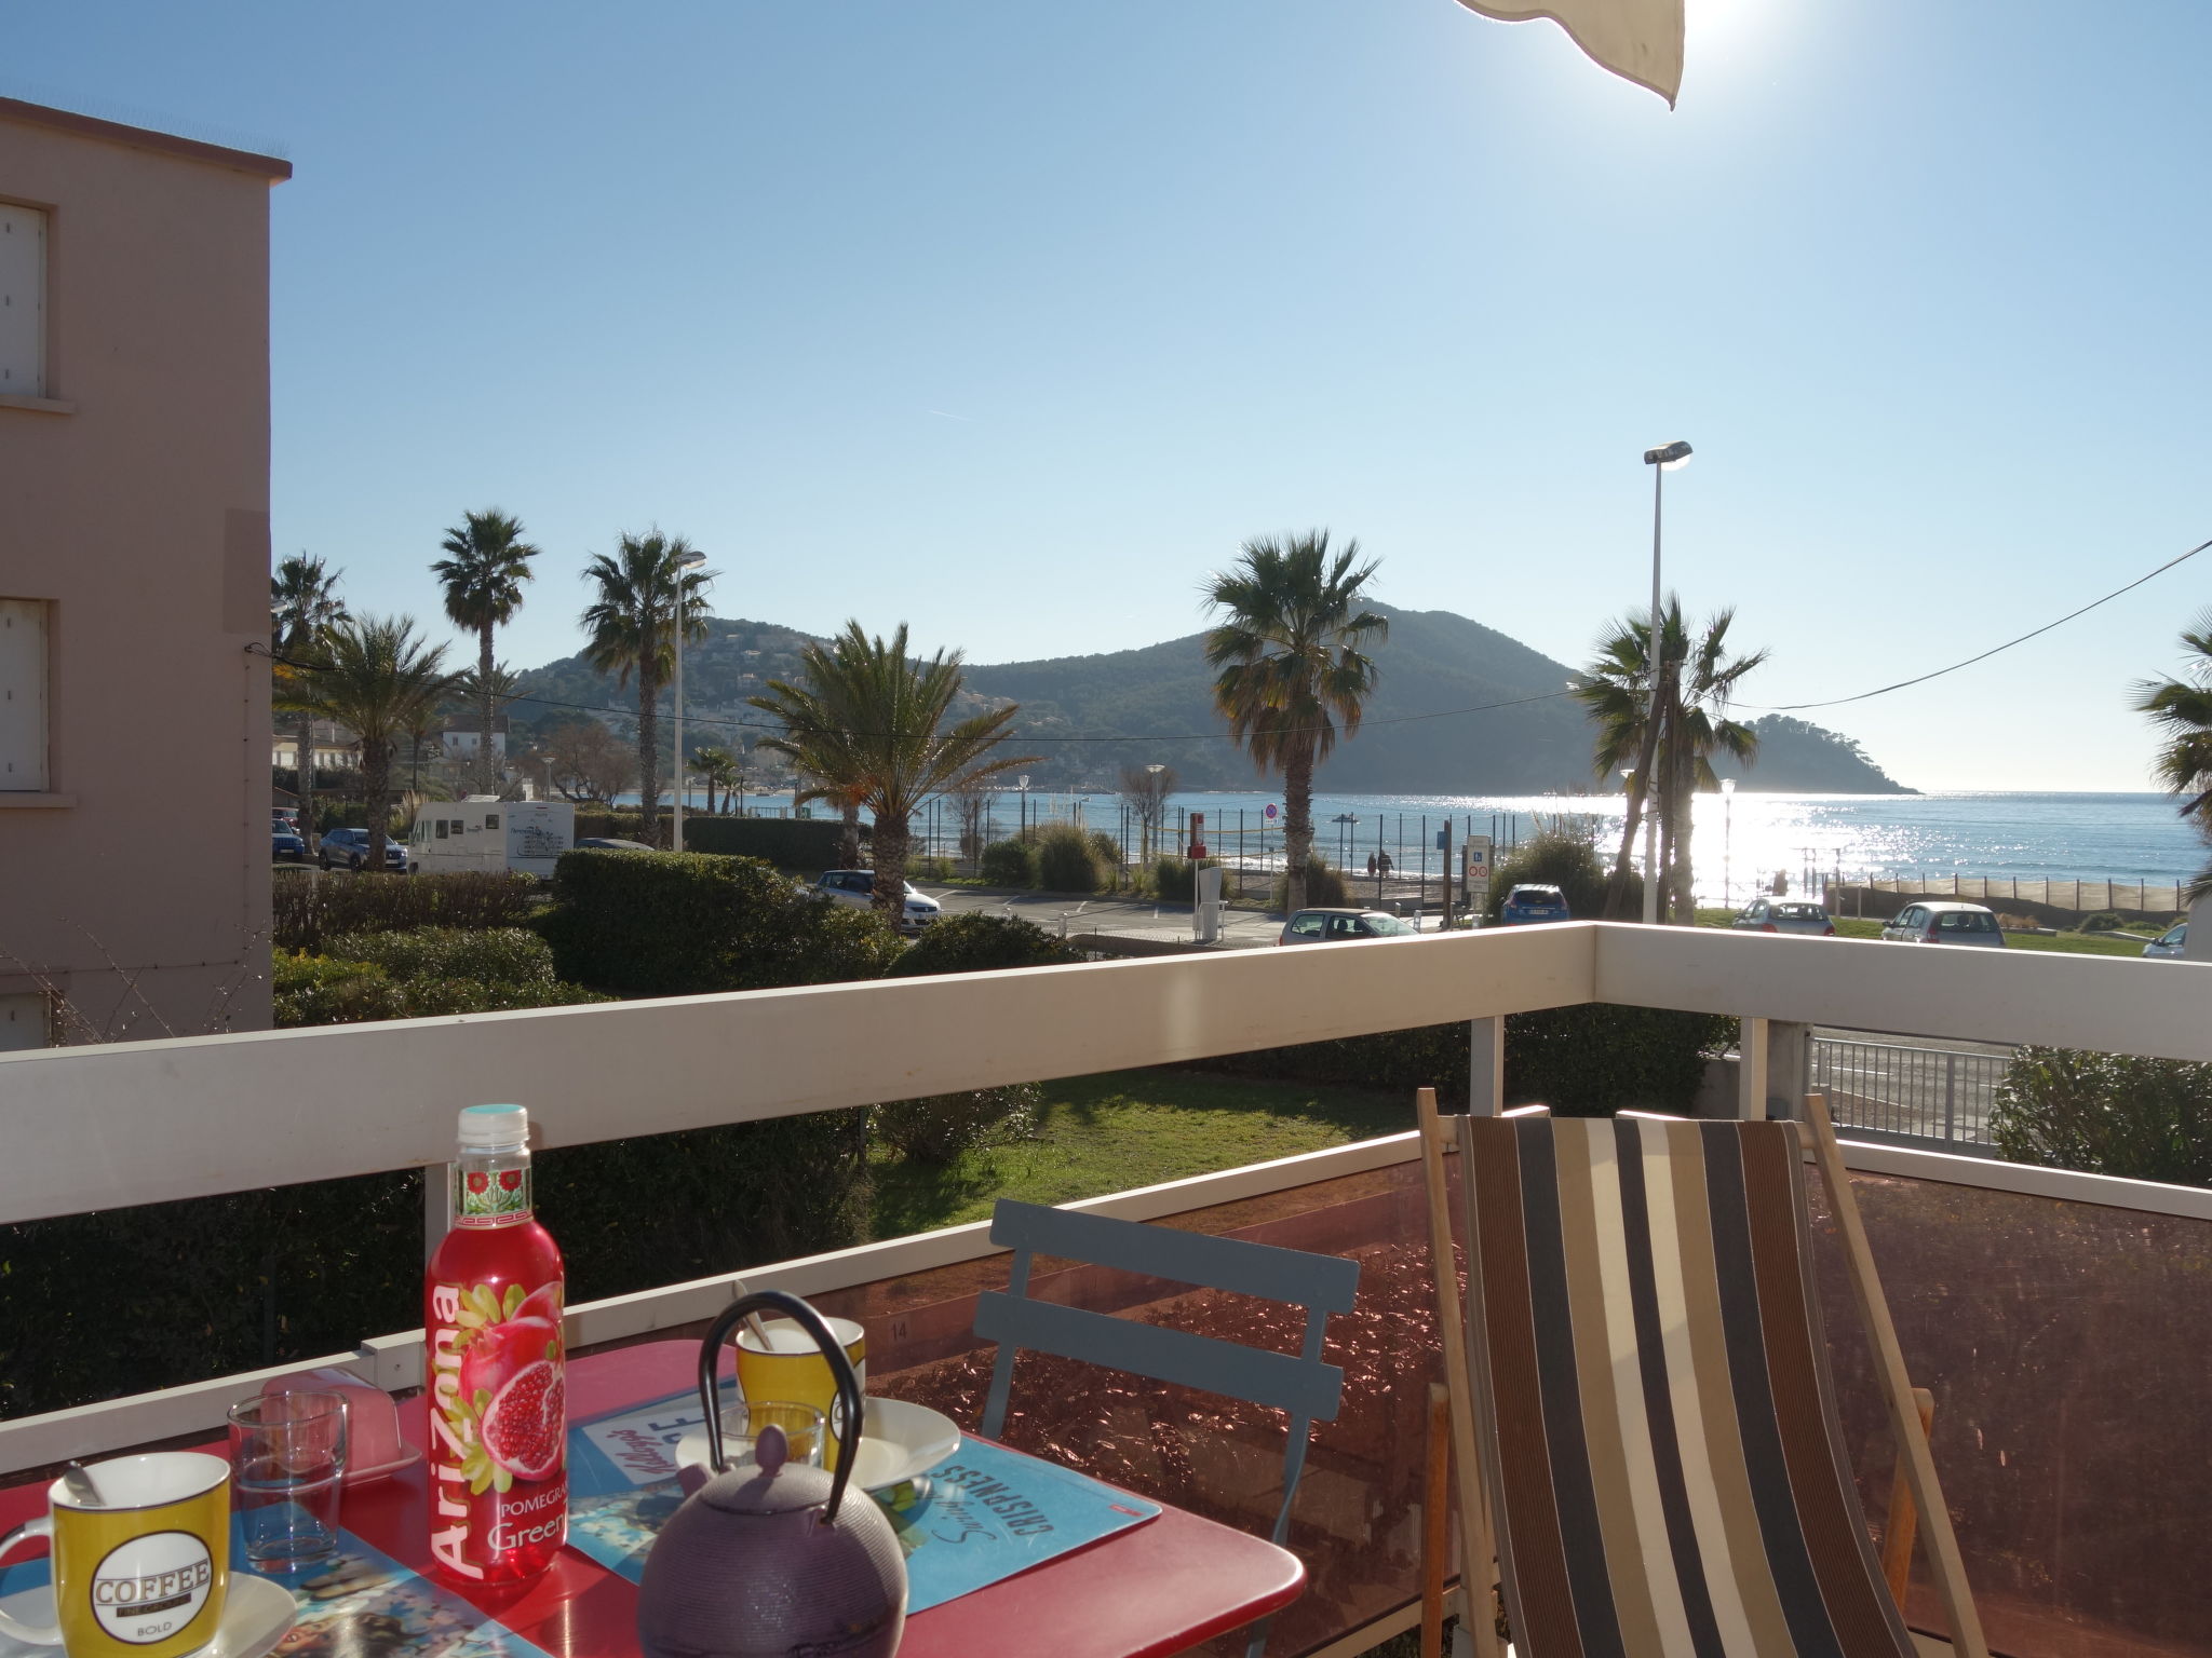
POLYGON ((1068 1203, 1413 1127, 1413 1101, 1197 1070, 1042 1083, 1037 1138, 927 1169, 876 1163, 876 1236, 987 1220, 995 1198, 1068 1203))

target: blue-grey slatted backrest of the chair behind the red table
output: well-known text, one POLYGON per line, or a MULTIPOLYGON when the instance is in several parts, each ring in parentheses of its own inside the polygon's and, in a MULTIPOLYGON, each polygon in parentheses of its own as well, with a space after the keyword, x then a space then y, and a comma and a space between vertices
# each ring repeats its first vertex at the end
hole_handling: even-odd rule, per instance
POLYGON ((975 1298, 975 1333, 1000 1344, 998 1364, 991 1368, 991 1397, 982 1413, 984 1437, 995 1439, 1004 1428, 1013 1357, 1024 1346, 1287 1410, 1283 1505, 1276 1512, 1272 1534, 1281 1543, 1290 1530, 1290 1503, 1305 1468, 1305 1441, 1312 1424, 1314 1419, 1332 1421, 1345 1391, 1345 1373, 1321 1362, 1321 1344, 1327 1335, 1329 1313, 1352 1311, 1360 1265, 1340 1256, 1312 1256, 1303 1249, 1148 1227, 1139 1220, 1048 1209, 1011 1198, 1000 1198, 991 1214, 991 1242, 1013 1249, 1013 1278, 1004 1295, 975 1298), (1029 1295, 1029 1267, 1040 1253, 1117 1267, 1148 1278, 1170 1278, 1199 1289, 1294 1302, 1305 1309, 1303 1349, 1292 1357, 1241 1342, 1221 1342, 1212 1335, 1033 1300, 1029 1295))

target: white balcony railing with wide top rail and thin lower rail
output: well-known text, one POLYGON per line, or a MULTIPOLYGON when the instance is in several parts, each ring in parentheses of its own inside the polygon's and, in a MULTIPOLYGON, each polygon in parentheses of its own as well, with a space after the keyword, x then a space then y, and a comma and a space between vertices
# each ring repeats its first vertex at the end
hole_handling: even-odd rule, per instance
MULTIPOLYGON (((577 1145, 1579 1001, 2212 1059, 2212 977, 2192 964, 1575 922, 7 1054, 0 1222, 442 1167, 453 1110, 480 1101, 524 1101, 544 1145, 577 1145)), ((1491 1032, 1478 1026, 1473 1041, 1480 1061, 1491 1032)), ((1398 1136, 1095 1207, 1175 1214, 1409 1156, 1398 1136)), ((1854 1145, 1849 1161, 2212 1220, 2212 1192, 2188 1187, 1887 1145, 1854 1145)), ((748 1278, 812 1293, 987 1253, 982 1227, 956 1227, 748 1278)), ((571 1340, 703 1318, 726 1287, 712 1278, 577 1307, 571 1340)), ((409 1386, 420 1333, 352 1357, 385 1386, 409 1386)), ((239 1386, 223 1377, 0 1424, 0 1468, 212 1426, 239 1386)))

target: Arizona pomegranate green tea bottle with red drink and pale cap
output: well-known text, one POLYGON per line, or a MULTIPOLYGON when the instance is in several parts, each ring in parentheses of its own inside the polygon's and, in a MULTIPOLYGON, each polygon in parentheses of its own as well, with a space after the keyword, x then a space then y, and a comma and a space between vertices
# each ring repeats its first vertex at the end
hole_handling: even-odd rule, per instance
POLYGON ((429 1552, 449 1583, 518 1583, 568 1536, 564 1280, 520 1105, 460 1114, 451 1214, 422 1273, 429 1552))

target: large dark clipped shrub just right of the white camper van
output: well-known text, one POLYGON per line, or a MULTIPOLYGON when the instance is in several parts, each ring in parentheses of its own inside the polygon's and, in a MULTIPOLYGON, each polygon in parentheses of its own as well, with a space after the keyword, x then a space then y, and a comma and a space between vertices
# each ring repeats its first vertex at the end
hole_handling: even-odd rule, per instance
POLYGON ((874 911, 695 851, 562 853, 538 928, 562 979, 635 997, 874 979, 898 955, 874 911))

